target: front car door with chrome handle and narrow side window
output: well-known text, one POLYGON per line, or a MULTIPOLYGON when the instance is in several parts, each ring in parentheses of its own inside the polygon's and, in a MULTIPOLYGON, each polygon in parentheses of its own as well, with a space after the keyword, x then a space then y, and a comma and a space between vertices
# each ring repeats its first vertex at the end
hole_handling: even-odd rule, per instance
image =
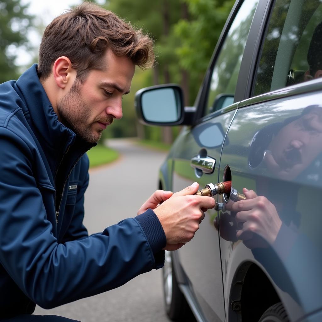
MULTIPOLYGON (((237 111, 236 83, 257 1, 236 3, 197 101, 201 118, 185 127, 173 147, 172 189, 179 191, 194 181, 201 188, 218 182, 218 164, 227 129, 237 111), (213 168, 212 168, 213 167, 213 168)), ((223 284, 217 212, 208 211, 193 241, 178 253, 204 317, 224 321, 223 284)))

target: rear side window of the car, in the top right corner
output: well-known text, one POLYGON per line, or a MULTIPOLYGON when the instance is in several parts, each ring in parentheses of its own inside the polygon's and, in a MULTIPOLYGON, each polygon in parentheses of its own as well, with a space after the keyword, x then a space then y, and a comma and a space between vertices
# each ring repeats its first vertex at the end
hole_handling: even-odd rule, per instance
POLYGON ((318 72, 322 70, 321 3, 322 0, 275 2, 261 49, 253 95, 321 76, 318 72))

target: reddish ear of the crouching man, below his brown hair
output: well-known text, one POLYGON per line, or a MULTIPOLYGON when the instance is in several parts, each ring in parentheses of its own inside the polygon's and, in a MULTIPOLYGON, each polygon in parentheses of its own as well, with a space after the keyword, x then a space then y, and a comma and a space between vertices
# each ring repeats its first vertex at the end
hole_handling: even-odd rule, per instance
POLYGON ((70 59, 65 56, 56 59, 52 73, 57 86, 61 89, 70 87, 76 78, 76 71, 72 68, 70 59))

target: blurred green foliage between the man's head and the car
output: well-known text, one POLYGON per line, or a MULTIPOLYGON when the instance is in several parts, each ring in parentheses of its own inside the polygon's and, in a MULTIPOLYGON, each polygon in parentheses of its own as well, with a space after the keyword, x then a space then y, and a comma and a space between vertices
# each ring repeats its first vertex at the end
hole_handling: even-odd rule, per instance
MULTIPOLYGON (((107 9, 142 28, 155 40, 156 54, 156 66, 148 76, 135 76, 133 79, 131 94, 123 100, 123 119, 113 124, 109 136, 135 134, 132 93, 139 88, 157 83, 179 83, 186 94, 186 105, 193 104, 234 2, 155 0, 147 4, 145 0, 106 1, 107 9)), ((179 128, 169 131, 175 137, 179 128)), ((165 140, 164 130, 160 128, 144 127, 144 134, 148 139, 165 140)))

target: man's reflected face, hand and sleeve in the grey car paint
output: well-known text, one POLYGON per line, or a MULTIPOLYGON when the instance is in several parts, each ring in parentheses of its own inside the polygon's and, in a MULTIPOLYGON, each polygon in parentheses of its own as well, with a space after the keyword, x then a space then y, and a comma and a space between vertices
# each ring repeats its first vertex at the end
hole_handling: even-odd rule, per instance
MULTIPOLYGON (((270 141, 259 147, 262 141, 253 140, 258 146, 250 151, 261 153, 261 165, 267 166, 274 178, 260 177, 256 192, 242 190, 246 200, 226 204, 230 213, 219 216, 220 236, 232 242, 242 240, 275 284, 308 310, 321 296, 322 260, 320 247, 298 229, 299 185, 294 181, 321 179, 322 107, 308 106, 299 116, 263 130, 270 141), (278 130, 268 136, 267 129, 278 130)), ((259 161, 258 156, 250 156, 250 165, 254 160, 259 161)))

